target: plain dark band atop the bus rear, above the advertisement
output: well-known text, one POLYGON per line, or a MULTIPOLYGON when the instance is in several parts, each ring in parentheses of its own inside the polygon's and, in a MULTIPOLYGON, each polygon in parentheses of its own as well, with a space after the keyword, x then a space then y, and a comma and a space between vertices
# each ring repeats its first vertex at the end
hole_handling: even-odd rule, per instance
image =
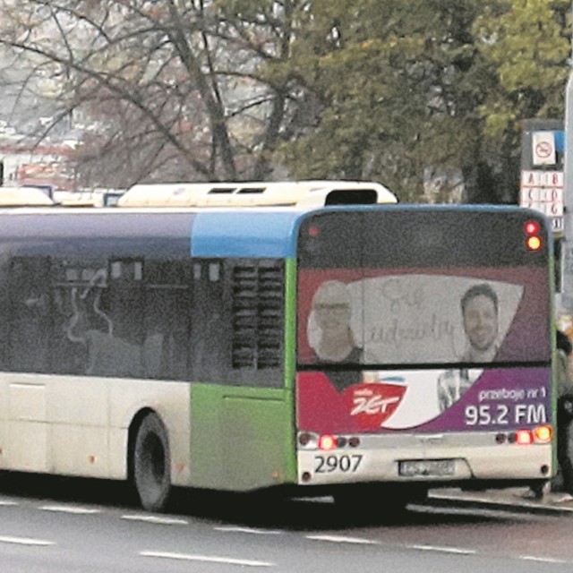
POLYGON ((361 249, 364 267, 444 268, 546 265, 547 233, 539 252, 526 250, 524 226, 543 219, 517 210, 415 210, 386 206, 360 213, 323 212, 299 233, 302 268, 352 268, 361 249))

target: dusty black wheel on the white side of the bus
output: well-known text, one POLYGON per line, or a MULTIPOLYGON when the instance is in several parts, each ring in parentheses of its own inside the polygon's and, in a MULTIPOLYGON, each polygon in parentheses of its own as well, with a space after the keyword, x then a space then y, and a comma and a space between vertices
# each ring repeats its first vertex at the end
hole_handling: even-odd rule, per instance
POLYGON ((133 451, 133 482, 144 509, 166 509, 171 491, 169 468, 169 441, 165 425, 158 415, 146 415, 137 431, 133 451))

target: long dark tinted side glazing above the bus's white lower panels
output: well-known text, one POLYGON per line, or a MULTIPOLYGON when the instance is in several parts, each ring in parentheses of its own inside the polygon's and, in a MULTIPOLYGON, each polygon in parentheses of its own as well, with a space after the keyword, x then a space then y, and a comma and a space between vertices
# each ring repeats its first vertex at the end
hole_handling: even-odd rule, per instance
POLYGON ((9 286, 0 292, 3 367, 189 380, 189 268, 188 261, 13 258, 0 281, 9 286))

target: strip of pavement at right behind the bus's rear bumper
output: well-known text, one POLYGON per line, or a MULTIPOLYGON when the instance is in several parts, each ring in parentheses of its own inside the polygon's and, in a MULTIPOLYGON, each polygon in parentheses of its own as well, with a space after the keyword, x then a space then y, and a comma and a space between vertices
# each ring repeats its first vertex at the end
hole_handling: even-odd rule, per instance
POLYGON ((544 515, 569 514, 573 517, 573 497, 563 492, 546 492, 542 500, 527 497, 528 488, 464 492, 459 489, 431 490, 432 505, 474 507, 483 509, 509 509, 544 515))

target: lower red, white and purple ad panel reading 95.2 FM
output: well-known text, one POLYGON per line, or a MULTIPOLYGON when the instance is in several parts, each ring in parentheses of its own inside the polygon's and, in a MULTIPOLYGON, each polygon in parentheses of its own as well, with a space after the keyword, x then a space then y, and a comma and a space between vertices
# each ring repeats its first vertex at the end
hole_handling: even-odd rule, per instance
POLYGON ((299 372, 298 428, 321 433, 483 432, 551 423, 549 367, 362 374, 360 381, 337 390, 329 372, 299 372))

